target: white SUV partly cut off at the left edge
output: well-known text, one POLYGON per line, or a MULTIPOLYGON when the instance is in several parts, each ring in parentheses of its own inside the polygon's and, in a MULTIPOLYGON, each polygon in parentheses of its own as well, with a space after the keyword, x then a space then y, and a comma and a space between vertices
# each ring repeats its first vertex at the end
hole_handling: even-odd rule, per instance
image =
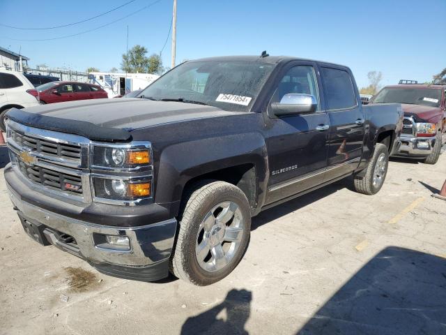
POLYGON ((0 130, 5 131, 3 118, 13 107, 26 108, 39 104, 38 92, 21 72, 0 68, 0 130))

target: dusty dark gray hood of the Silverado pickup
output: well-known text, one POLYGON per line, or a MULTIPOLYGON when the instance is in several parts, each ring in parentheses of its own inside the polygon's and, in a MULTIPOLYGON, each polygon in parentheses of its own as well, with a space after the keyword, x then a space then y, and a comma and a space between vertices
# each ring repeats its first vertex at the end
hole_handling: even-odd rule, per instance
POLYGON ((124 128, 129 131, 159 124, 239 113, 226 112, 220 108, 206 105, 150 101, 141 98, 70 101, 39 105, 26 108, 24 111, 46 117, 85 121, 105 128, 124 128))

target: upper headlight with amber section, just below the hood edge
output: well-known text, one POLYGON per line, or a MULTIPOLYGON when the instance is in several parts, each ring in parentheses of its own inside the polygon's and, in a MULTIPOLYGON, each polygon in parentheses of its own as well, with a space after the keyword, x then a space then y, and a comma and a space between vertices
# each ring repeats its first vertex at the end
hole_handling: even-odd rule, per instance
POLYGON ((93 165, 98 168, 136 168, 151 164, 149 148, 100 147, 93 149, 93 165))

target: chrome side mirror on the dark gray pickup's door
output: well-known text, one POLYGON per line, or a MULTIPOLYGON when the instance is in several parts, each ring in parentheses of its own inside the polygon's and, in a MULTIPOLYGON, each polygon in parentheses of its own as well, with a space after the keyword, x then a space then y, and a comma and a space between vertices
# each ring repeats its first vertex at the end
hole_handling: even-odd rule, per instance
POLYGON ((279 103, 272 103, 271 109, 276 117, 287 117, 316 112, 318 101, 310 94, 285 94, 279 103))

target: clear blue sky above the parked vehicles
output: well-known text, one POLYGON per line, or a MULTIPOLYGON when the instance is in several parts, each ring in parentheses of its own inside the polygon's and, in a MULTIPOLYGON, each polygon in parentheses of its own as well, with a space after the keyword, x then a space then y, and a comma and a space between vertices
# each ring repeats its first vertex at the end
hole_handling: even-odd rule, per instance
MULTIPOLYGON (((0 0, 0 23, 54 27, 86 20, 128 1, 78 0, 65 5, 0 0)), ((46 64, 84 71, 94 66, 108 71, 120 68, 127 27, 129 48, 139 44, 149 54, 159 53, 168 36, 172 7, 173 0, 133 0, 106 15, 59 29, 0 25, 0 46, 29 57, 31 67, 46 64), (98 27, 102 28, 81 34, 98 27), (73 34, 79 35, 39 40, 73 34)), ((400 79, 425 82, 446 67, 445 18, 446 0, 178 0, 176 64, 267 50, 271 55, 349 66, 359 87, 367 86, 371 70, 383 73, 383 85, 400 79)), ((164 66, 171 64, 171 35, 162 61, 164 66)))

